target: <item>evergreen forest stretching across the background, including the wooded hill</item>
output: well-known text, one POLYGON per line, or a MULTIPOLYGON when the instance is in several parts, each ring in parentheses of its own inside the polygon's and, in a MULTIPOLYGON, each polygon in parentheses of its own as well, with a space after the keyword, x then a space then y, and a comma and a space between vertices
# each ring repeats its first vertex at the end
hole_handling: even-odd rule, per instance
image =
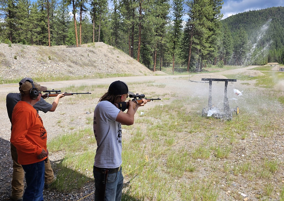
POLYGON ((104 42, 151 70, 170 66, 173 73, 284 62, 284 7, 222 20, 222 0, 111 3, 110 8, 106 0, 0 0, 0 42, 75 47, 104 42))

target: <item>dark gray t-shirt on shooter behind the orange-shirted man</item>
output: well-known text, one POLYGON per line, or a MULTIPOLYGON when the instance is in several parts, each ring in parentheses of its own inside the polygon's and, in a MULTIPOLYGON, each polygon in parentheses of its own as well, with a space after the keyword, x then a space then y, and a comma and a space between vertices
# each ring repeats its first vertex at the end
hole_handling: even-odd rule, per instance
MULTIPOLYGON (((21 100, 21 94, 20 93, 9 93, 6 97, 6 107, 7 107, 7 113, 8 117, 12 123, 12 112, 17 104, 21 100)), ((34 104, 34 108, 36 109, 37 113, 38 111, 42 111, 44 113, 47 113, 51 108, 52 104, 49 104, 46 102, 43 98, 40 98, 40 100, 34 104)), ((12 129, 12 127, 11 127, 12 129)))

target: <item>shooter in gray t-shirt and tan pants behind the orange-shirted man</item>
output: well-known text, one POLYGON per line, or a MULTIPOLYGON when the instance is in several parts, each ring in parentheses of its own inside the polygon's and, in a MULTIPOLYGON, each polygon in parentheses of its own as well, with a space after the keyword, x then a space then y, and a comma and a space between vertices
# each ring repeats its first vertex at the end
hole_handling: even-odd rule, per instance
MULTIPOLYGON (((19 82, 19 89, 22 84, 26 81, 34 82, 32 78, 23 78, 19 82)), ((46 87, 45 87, 46 88, 46 87)), ((60 93, 57 97, 55 97, 52 104, 46 102, 43 98, 41 98, 35 105, 34 108, 38 111, 42 111, 44 113, 54 112, 57 108, 59 99, 64 97, 64 93, 60 93)), ((12 123, 12 112, 18 101, 21 100, 21 93, 9 93, 6 97, 6 107, 8 117, 12 123)), ((12 125, 11 125, 12 130, 12 125)), ((22 200, 22 196, 24 193, 24 170, 22 165, 18 163, 18 154, 16 147, 11 144, 11 156, 13 159, 13 176, 12 176, 12 192, 10 194, 11 200, 22 200)), ((45 188, 49 188, 51 183, 56 180, 56 177, 53 174, 53 170, 51 168, 51 164, 49 158, 47 157, 47 162, 45 163, 45 188)))

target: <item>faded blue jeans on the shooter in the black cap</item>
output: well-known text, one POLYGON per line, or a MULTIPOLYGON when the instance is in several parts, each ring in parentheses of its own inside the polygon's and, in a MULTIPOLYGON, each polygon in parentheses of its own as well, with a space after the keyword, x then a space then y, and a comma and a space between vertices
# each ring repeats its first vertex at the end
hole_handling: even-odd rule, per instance
POLYGON ((120 201, 122 196, 123 175, 122 168, 116 173, 108 174, 106 179, 105 200, 100 199, 100 192, 103 189, 103 175, 93 169, 95 178, 95 201, 120 201))

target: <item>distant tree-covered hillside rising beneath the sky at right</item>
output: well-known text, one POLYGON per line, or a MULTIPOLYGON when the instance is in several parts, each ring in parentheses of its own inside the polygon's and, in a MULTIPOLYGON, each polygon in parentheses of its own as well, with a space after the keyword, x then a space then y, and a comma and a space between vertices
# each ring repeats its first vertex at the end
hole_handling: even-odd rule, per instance
MULTIPOLYGON (((222 20, 224 27, 228 27, 233 38, 256 42, 256 37, 260 37, 258 48, 263 48, 267 44, 269 53, 265 62, 283 63, 284 58, 284 7, 272 7, 262 10, 250 10, 239 13, 222 20), (266 32, 263 31, 267 25, 266 32), (264 34, 263 34, 264 33, 264 34)), ((235 41, 237 42, 237 41, 235 41)), ((239 41, 240 43, 241 41, 239 41)), ((262 63, 261 63, 262 64, 262 63)))

